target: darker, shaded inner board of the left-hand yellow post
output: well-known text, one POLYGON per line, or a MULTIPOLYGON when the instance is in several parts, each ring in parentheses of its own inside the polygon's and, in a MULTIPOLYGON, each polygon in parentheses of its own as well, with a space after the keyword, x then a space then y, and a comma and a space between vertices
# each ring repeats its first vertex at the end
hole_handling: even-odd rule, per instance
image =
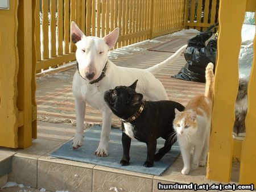
MULTIPOLYGON (((34 15, 33 15, 34 16, 34 15)), ((18 108, 23 111, 23 126, 18 129, 19 148, 32 145, 32 2, 20 0, 18 7, 18 108)), ((34 20, 34 17, 33 17, 34 20)), ((34 43, 34 41, 33 41, 34 43)), ((35 53, 35 52, 34 52, 35 53)))

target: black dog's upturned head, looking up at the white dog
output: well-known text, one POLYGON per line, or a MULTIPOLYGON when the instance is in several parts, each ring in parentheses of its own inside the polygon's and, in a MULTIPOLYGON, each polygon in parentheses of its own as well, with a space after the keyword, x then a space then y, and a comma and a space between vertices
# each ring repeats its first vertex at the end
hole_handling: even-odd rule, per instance
POLYGON ((137 81, 129 87, 117 86, 114 89, 105 91, 105 102, 119 118, 130 118, 138 110, 138 107, 141 106, 143 95, 135 91, 137 81))

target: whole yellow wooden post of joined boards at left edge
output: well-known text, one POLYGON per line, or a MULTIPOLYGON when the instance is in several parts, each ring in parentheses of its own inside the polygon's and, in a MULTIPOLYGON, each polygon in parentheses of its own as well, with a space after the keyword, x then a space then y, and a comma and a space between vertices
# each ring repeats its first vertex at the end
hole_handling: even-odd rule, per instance
POLYGON ((0 10, 0 146, 27 148, 36 137, 35 46, 31 1, 0 10))

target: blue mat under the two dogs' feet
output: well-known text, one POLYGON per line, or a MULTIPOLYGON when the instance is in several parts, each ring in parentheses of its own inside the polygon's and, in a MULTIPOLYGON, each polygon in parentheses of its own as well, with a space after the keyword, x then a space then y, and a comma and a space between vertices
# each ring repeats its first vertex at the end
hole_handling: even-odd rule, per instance
MULTIPOLYGON (((131 140, 130 148, 130 165, 121 166, 119 161, 123 155, 122 148, 122 131, 112 128, 109 141, 109 156, 97 157, 94 151, 98 147, 100 141, 100 126, 93 126, 85 132, 85 139, 82 147, 73 150, 72 140, 62 145, 57 151, 52 153, 52 157, 64 158, 67 160, 87 162, 89 164, 108 166, 110 168, 124 169, 131 172, 152 174, 160 176, 163 172, 176 160, 180 155, 180 149, 177 142, 172 145, 172 149, 160 161, 155 161, 154 166, 145 168, 143 166, 147 157, 147 146, 145 143, 137 140, 131 140)), ((158 139, 157 151, 164 145, 163 139, 158 139)))

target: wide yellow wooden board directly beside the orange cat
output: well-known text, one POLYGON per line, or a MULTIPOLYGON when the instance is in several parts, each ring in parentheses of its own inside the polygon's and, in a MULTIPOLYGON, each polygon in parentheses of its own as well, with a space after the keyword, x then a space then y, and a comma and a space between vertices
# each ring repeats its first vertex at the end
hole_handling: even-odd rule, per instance
POLYGON ((232 168, 234 105, 238 90, 238 55, 245 5, 243 0, 220 2, 220 35, 207 178, 221 182, 230 181, 232 168))

